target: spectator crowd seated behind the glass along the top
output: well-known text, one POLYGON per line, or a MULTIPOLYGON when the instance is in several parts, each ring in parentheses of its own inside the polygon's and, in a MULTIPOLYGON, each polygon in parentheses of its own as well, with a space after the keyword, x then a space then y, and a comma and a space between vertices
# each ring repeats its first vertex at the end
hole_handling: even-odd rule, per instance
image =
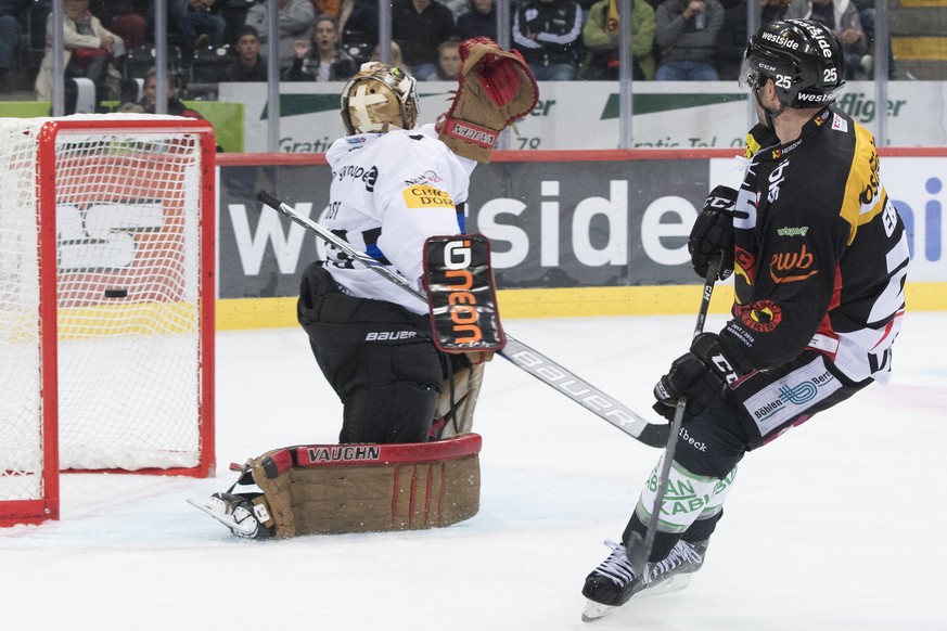
MULTIPOLYGON (((832 28, 845 48, 847 78, 870 78, 871 0, 752 0, 763 22, 805 17, 832 28)), ((538 80, 614 80, 622 20, 630 23, 637 80, 735 80, 746 42, 747 0, 512 0, 502 26, 538 80)), ((49 100, 52 80, 50 0, 0 0, 0 92, 11 90, 16 55, 30 34, 44 36, 31 86, 49 100), (43 9, 46 11, 43 11, 43 9), (37 24, 40 22, 40 24, 37 24)), ((342 81, 379 55, 377 0, 278 0, 270 33, 264 0, 166 0, 172 91, 189 83, 265 81, 276 38, 284 81, 342 81)), ((65 0, 63 66, 88 79, 97 103, 143 98, 153 69, 154 0, 65 0), (142 63, 144 57, 144 63, 142 63)), ((495 0, 392 0, 389 61, 418 80, 458 76, 463 39, 499 39, 495 0)), ((20 50, 22 49, 22 50, 20 50)), ((38 51, 36 51, 38 52, 38 51)), ((893 60, 892 60, 893 61, 893 60)), ((27 64, 28 65, 28 64, 27 64)))

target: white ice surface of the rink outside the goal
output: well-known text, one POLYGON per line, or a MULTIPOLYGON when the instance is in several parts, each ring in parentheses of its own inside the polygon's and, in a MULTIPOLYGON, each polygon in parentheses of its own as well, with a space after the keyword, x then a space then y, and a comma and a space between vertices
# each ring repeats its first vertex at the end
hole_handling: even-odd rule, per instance
MULTIPOLYGON (((712 317, 707 330, 719 327, 712 317)), ((909 313, 892 384, 744 459, 704 568, 594 629, 945 630, 945 313, 909 313)), ((651 417, 692 317, 510 320, 651 417)), ((302 331, 217 336, 216 479, 67 475, 62 519, 0 529, 7 631, 590 629, 585 576, 658 452, 501 359, 487 366, 481 511, 437 530, 233 539, 184 502, 230 462, 335 440, 341 407, 302 331)))

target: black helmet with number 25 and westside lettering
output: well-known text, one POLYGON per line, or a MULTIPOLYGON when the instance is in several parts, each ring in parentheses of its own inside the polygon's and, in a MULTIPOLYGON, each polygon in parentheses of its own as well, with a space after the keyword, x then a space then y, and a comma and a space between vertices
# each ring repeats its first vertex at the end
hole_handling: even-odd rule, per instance
POLYGON ((832 103, 845 86, 845 60, 835 35, 810 20, 770 22, 750 38, 740 86, 756 91, 770 78, 783 107, 832 103))

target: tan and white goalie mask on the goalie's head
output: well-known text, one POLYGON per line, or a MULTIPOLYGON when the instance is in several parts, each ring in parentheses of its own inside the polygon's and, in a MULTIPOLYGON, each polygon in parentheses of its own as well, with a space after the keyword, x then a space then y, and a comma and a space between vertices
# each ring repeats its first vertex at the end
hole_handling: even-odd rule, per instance
POLYGON ((368 62, 342 89, 342 124, 348 134, 413 129, 414 78, 397 66, 368 62))

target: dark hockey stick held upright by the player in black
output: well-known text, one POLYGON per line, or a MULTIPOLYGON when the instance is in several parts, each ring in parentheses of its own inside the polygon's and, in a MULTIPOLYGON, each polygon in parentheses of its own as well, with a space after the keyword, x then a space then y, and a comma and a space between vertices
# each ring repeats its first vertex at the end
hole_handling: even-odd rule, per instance
MULTIPOLYGON (((714 284, 717 282, 717 275, 720 273, 722 262, 724 256, 720 254, 711 259, 711 265, 707 266, 707 278, 704 280, 704 293, 701 296, 701 308, 698 311, 698 323, 694 326, 693 337, 696 337, 704 331, 704 322, 711 308, 711 296, 714 294, 714 284)), ((641 577, 641 580, 644 582, 648 582, 648 577, 645 576, 648 571, 648 557, 651 556, 651 550, 654 548, 654 538, 657 535, 657 520, 661 518, 661 508, 664 505, 667 479, 670 477, 670 463, 674 461, 674 454, 677 451, 678 434, 680 433, 681 423, 683 423, 686 407, 687 397, 679 397, 677 408, 674 411, 670 432, 667 436, 667 446, 664 448, 664 460, 661 463, 661 475, 657 478, 654 505, 651 507, 651 520, 648 523, 644 538, 642 539, 641 533, 635 531, 631 532, 628 541, 625 542, 625 553, 628 555, 628 561, 635 569, 635 576, 641 577)))

